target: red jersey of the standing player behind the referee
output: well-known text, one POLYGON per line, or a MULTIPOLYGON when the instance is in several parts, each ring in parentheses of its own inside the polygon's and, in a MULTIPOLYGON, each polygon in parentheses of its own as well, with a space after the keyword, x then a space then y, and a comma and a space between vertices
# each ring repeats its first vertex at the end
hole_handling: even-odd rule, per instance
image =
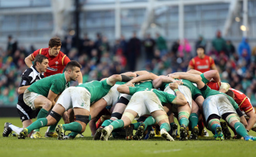
POLYGON ((61 51, 59 52, 59 54, 56 57, 50 56, 49 48, 38 49, 35 52, 33 52, 33 54, 31 54, 31 56, 33 59, 35 59, 35 56, 38 54, 45 55, 46 57, 48 57, 48 60, 49 60, 49 63, 48 63, 49 67, 47 68, 47 70, 44 74, 45 77, 62 73, 65 66, 70 61, 69 57, 67 57, 67 55, 65 55, 61 51))

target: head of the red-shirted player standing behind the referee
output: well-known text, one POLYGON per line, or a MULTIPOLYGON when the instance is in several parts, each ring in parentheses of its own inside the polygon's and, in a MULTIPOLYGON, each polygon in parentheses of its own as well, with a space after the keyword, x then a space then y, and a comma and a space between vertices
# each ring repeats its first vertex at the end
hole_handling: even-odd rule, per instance
POLYGON ((59 37, 52 37, 49 41, 50 56, 57 56, 61 48, 61 40, 59 37))

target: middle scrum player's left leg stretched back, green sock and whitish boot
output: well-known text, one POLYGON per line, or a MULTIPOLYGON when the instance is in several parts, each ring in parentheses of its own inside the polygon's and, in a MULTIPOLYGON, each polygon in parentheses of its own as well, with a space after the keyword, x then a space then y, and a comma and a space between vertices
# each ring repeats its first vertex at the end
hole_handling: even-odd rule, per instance
POLYGON ((135 116, 137 116, 138 113, 131 109, 126 109, 124 111, 124 114, 122 115, 122 118, 120 120, 115 120, 108 126, 106 126, 104 129, 102 129, 102 135, 100 137, 101 140, 108 140, 108 137, 110 133, 114 129, 119 129, 122 127, 126 127, 132 123, 135 116))

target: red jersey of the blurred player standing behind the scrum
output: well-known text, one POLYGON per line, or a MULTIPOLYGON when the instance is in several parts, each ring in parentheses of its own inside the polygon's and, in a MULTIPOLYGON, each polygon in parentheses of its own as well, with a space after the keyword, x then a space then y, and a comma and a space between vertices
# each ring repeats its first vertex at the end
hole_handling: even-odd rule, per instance
POLYGON ((195 69, 202 73, 209 71, 213 65, 215 65, 214 60, 208 55, 205 55, 203 59, 197 56, 189 61, 189 68, 195 69))

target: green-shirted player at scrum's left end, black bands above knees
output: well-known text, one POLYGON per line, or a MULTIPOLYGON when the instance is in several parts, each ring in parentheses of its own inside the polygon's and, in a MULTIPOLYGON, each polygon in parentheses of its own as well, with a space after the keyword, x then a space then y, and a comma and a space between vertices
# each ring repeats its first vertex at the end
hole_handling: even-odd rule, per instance
POLYGON ((23 129, 18 139, 24 139, 33 129, 58 123, 61 115, 70 108, 73 108, 76 120, 70 124, 60 124, 56 127, 58 139, 63 140, 67 130, 83 133, 91 119, 89 116, 90 104, 105 96, 117 81, 129 81, 130 79, 132 78, 124 75, 112 75, 103 81, 91 81, 76 87, 67 88, 59 96, 50 115, 46 118, 37 119, 37 121, 23 129))

